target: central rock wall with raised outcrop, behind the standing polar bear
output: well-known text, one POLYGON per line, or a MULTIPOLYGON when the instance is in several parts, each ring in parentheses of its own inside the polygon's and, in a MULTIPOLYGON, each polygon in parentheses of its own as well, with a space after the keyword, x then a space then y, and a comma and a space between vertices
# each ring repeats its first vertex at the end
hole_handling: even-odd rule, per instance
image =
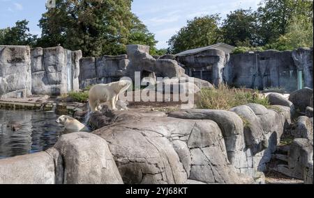
POLYGON ((82 58, 80 61, 80 88, 95 83, 119 81, 123 76, 135 79, 135 72, 143 77, 183 77, 184 69, 176 60, 155 59, 149 55, 149 47, 132 44, 128 55, 82 58))

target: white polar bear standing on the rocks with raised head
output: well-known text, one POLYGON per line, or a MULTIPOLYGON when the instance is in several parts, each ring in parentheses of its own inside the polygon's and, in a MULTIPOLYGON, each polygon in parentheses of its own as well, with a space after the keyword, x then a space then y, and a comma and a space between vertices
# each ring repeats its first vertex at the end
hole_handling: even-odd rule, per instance
POLYGON ((132 81, 121 80, 109 84, 94 85, 91 90, 89 90, 89 106, 91 112, 99 110, 99 105, 105 102, 108 103, 110 110, 118 110, 116 104, 119 100, 119 94, 128 90, 131 84, 132 81))

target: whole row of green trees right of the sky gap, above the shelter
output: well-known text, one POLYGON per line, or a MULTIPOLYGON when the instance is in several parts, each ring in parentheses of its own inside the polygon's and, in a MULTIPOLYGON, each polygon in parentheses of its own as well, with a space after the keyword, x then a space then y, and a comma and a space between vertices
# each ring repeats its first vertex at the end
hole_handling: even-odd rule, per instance
POLYGON ((216 42, 242 49, 313 47, 313 1, 262 0, 259 8, 238 9, 221 22, 218 15, 195 17, 168 41, 179 53, 216 42))

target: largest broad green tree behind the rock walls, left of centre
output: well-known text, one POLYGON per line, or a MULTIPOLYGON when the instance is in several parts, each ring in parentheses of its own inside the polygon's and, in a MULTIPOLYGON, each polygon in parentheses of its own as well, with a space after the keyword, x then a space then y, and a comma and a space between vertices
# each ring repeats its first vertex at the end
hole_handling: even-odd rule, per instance
POLYGON ((133 0, 57 0, 40 19, 38 45, 81 49, 84 56, 117 55, 126 44, 154 47, 154 35, 131 12, 133 0))

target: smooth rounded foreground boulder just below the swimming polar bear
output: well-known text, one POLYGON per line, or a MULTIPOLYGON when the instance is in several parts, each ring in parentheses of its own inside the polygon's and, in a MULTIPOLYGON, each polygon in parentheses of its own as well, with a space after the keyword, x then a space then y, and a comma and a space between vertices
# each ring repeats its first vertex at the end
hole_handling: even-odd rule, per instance
POLYGON ((62 135, 54 148, 63 159, 64 184, 123 183, 107 142, 97 135, 62 135))

